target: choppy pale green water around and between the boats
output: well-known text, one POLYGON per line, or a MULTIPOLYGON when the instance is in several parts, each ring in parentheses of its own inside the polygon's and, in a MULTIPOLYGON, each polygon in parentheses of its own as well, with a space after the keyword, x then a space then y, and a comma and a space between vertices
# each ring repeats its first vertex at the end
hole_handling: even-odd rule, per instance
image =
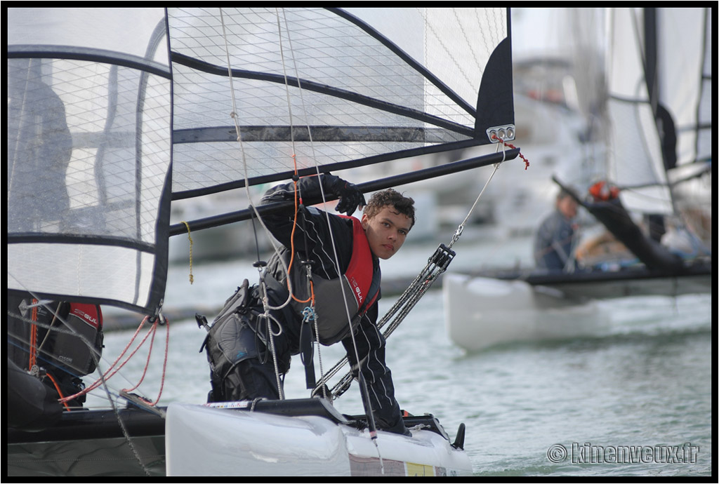
MULTIPOLYGON (((408 253, 415 250, 432 251, 408 253)), ((196 282, 189 284, 188 269, 170 270, 167 306, 214 306, 256 274, 251 261, 206 264, 193 268, 196 282)), ((433 290, 388 339, 387 361, 403 409, 433 414, 450 439, 466 424, 465 450, 475 475, 710 475, 711 299, 709 294, 615 299, 603 303, 613 319, 601 337, 466 353, 446 336, 442 294, 433 290)), ((380 314, 394 300, 385 297, 380 314)), ((135 390, 150 400, 160 392, 165 330, 159 328, 150 370, 135 390)), ((132 333, 106 335, 106 362, 132 333)), ((206 401, 209 368, 199 352, 204 335, 194 320, 170 321, 160 404, 206 401)), ((320 350, 318 374, 320 358, 326 371, 343 355, 340 345, 320 350)), ((143 351, 113 378, 113 388, 131 388, 139 380, 147 362, 143 351)), ((285 380, 285 396, 308 396, 298 358, 285 380)), ((357 384, 334 405, 344 414, 363 413, 357 384)))

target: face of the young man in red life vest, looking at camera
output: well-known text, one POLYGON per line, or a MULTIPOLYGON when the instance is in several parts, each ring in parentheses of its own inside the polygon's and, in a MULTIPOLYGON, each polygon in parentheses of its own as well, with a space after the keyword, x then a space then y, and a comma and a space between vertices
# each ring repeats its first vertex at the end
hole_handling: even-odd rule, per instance
POLYGON ((365 228, 372 254, 378 259, 389 259, 400 250, 407 238, 412 219, 395 211, 393 205, 385 205, 372 218, 362 214, 362 227, 365 228))

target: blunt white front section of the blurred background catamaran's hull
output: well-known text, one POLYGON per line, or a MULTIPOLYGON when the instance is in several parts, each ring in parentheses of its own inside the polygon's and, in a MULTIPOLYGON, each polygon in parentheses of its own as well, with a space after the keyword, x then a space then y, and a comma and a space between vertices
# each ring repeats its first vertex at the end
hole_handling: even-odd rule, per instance
POLYGON ((502 343, 599 335, 610 316, 595 301, 567 299, 562 292, 524 281, 445 274, 446 331, 465 350, 502 343))

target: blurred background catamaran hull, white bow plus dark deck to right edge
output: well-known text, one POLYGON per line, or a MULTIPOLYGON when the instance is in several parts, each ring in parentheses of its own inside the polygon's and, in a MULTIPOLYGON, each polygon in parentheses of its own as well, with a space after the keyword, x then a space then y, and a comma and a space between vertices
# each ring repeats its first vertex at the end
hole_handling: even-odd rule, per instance
POLYGON ((680 273, 631 268, 576 274, 505 271, 445 274, 446 332, 465 350, 503 343, 602 335, 611 317, 600 299, 708 293, 711 263, 680 273))

